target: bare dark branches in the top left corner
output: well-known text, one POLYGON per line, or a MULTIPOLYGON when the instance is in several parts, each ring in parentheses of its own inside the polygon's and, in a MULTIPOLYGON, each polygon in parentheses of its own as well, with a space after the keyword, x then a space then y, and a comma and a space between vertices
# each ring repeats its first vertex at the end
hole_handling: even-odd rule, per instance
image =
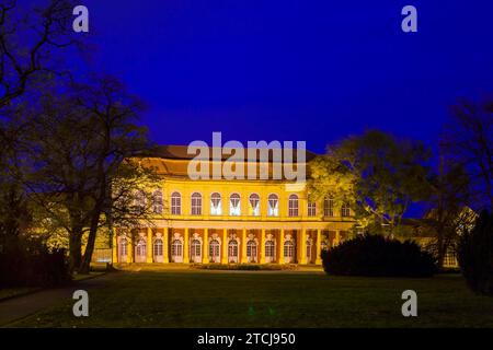
POLYGON ((0 3, 0 109, 24 94, 30 82, 61 73, 53 57, 76 43, 73 7, 72 1, 49 0, 22 15, 15 0, 0 3))

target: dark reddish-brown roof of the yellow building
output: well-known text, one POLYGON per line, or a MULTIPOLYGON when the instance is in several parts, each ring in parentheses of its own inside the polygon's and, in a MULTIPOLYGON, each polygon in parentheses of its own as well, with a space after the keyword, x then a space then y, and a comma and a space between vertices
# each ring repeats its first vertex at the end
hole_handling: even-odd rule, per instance
MULTIPOLYGON (((196 154, 198 154, 198 152, 196 154, 188 154, 187 153, 188 147, 187 145, 174 145, 174 144, 167 144, 167 145, 157 145, 154 148, 152 148, 151 150, 147 150, 144 152, 138 152, 135 154, 135 156, 139 156, 139 158, 161 158, 161 159, 168 159, 168 160, 193 160, 195 159, 196 154)), ((213 152, 211 152, 213 148, 209 147, 209 160, 213 160, 213 152)), ((244 149, 245 154, 244 154, 244 159, 246 159, 248 155, 248 149, 244 149)), ((273 152, 268 152, 268 160, 270 162, 272 162, 272 154, 273 152)), ((226 161, 230 158, 230 154, 221 154, 221 161, 226 161)), ((283 155, 284 156, 284 155, 283 155)), ((317 153, 310 152, 310 151, 306 151, 306 160, 307 162, 313 160, 316 156, 318 156, 317 153)), ((257 151, 257 159, 260 159, 260 154, 257 151)), ((297 151, 296 149, 293 150, 293 159, 296 162, 297 160, 297 151)))

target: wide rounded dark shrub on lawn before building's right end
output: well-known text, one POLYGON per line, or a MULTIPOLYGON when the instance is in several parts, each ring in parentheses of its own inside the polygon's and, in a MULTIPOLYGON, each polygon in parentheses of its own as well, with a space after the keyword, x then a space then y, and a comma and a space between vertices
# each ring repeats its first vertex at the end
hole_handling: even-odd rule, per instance
POLYGON ((323 269, 340 276, 431 277, 435 259, 411 241, 362 235, 322 252, 323 269))

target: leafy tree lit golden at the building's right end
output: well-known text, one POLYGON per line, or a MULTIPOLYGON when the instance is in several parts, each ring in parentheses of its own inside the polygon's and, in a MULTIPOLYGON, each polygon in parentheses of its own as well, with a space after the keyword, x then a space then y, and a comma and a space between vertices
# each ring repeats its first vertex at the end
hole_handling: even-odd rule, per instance
POLYGON ((347 201, 363 226, 392 232, 413 201, 425 198, 428 151, 378 130, 330 145, 310 165, 309 192, 347 201))

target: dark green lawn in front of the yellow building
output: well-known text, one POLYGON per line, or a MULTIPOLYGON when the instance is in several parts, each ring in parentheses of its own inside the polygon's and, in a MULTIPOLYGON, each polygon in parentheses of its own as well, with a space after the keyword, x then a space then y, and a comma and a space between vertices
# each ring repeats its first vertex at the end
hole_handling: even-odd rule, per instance
POLYGON ((493 327, 493 298, 456 275, 370 279, 322 273, 117 272, 90 291, 90 317, 72 301, 24 318, 36 327, 493 327), (401 315, 401 293, 419 296, 419 317, 401 315))

